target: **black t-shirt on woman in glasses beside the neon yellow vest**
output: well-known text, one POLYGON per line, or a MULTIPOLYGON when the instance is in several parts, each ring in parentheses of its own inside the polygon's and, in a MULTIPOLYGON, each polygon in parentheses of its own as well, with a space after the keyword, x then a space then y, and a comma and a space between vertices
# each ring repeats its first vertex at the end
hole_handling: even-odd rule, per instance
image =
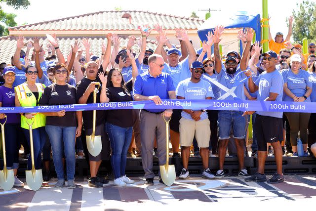
MULTIPOLYGON (((40 105, 68 105, 76 104, 76 88, 70 84, 46 86, 40 97, 40 105)), ((63 108, 60 108, 63 110, 63 108)), ((65 116, 47 116, 46 125, 77 127, 76 112, 68 111, 65 116)))

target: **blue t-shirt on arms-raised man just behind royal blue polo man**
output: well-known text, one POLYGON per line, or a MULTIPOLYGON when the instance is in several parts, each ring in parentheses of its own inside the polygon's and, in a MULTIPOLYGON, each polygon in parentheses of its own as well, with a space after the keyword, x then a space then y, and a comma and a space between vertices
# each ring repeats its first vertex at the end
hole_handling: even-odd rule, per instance
POLYGON ((189 67, 189 57, 185 58, 175 67, 171 67, 169 64, 164 63, 162 72, 170 74, 173 80, 173 86, 177 87, 178 84, 187 79, 191 78, 191 72, 189 67))

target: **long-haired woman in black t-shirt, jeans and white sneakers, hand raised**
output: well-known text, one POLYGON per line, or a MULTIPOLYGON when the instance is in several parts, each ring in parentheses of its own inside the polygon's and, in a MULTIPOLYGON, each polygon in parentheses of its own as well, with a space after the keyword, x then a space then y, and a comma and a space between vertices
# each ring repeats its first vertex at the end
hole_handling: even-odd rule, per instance
MULTIPOLYGON (((132 79, 128 82, 124 83, 121 72, 116 68, 111 69, 108 76, 99 73, 102 82, 101 103, 133 101, 130 92, 138 75, 138 69, 133 54, 128 50, 127 56, 132 63, 132 79)), ((125 176, 127 150, 133 133, 132 115, 131 109, 119 109, 108 112, 107 116, 106 127, 112 148, 111 165, 115 174, 114 185, 117 186, 134 183, 134 180, 125 176)))

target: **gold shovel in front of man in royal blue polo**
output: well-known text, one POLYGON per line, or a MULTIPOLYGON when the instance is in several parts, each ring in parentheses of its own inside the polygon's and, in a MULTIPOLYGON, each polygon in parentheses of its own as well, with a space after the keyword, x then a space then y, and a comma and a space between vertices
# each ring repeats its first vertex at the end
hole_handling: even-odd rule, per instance
POLYGON ((171 186, 176 180, 176 170, 174 165, 169 165, 169 122, 171 117, 167 121, 163 116, 163 120, 166 123, 166 164, 159 166, 159 169, 163 183, 167 186, 171 186))

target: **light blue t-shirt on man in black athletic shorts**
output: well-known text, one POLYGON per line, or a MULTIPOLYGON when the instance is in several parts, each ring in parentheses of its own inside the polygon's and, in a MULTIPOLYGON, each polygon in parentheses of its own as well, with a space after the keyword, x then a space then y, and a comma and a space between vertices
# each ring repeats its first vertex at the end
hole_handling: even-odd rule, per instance
MULTIPOLYGON (((258 86, 258 96, 257 100, 264 101, 267 97, 270 96, 270 92, 277 93, 276 101, 282 101, 283 95, 283 78, 280 72, 277 70, 272 73, 267 73, 264 71, 255 81, 255 84, 258 86)), ((266 111, 257 111, 256 112, 262 116, 282 118, 283 112, 266 112, 266 111)))

